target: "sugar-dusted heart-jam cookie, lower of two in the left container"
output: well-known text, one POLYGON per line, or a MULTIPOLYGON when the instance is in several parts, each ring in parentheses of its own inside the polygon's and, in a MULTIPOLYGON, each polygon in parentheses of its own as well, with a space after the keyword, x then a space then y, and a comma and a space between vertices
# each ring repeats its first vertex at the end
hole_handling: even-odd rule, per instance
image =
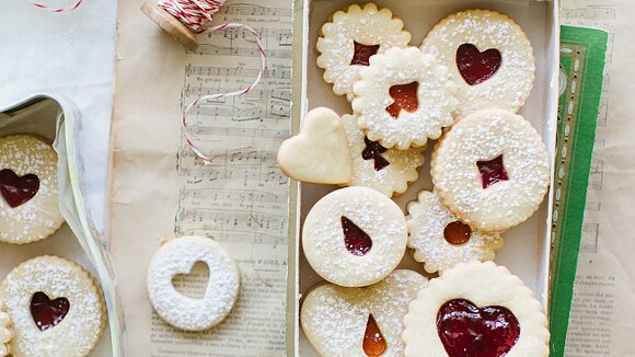
POLYGON ((106 327, 101 288, 81 266, 39 256, 11 270, 0 284, 0 300, 13 320, 15 357, 82 357, 106 327))

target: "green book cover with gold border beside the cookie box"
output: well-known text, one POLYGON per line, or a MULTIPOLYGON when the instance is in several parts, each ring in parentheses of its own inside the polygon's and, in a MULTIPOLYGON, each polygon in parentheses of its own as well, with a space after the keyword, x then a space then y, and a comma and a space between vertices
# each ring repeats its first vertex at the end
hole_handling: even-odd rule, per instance
POLYGON ((564 356, 608 34, 561 27, 561 78, 551 262, 551 356, 564 356))

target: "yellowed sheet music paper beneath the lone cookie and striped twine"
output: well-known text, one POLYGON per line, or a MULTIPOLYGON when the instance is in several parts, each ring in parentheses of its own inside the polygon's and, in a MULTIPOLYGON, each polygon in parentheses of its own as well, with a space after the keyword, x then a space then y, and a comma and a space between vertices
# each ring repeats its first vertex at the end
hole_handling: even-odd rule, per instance
MULTIPOLYGON (((267 66, 246 95, 196 107, 188 125, 212 158, 185 145, 181 111, 199 95, 231 92, 256 78, 259 53, 245 31, 200 34, 186 51, 140 11, 119 2, 113 124, 109 240, 118 268, 129 356, 286 355, 288 180, 276 163, 289 136, 292 1, 228 1, 215 24, 262 33, 267 66), (240 297, 217 327, 184 333, 165 324, 146 293, 146 268, 166 239, 200 234, 220 242, 241 270, 240 297)), ((174 285, 201 296, 198 264, 174 285)))

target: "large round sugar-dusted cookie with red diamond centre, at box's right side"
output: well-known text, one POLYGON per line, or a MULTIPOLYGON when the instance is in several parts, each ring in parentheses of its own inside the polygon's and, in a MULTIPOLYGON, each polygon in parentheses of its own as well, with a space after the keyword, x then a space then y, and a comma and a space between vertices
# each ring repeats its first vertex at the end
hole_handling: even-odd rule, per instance
POLYGON ((529 122, 504 110, 460 119, 430 160, 435 189, 461 221, 503 231, 538 209, 550 182, 545 145, 529 122))

